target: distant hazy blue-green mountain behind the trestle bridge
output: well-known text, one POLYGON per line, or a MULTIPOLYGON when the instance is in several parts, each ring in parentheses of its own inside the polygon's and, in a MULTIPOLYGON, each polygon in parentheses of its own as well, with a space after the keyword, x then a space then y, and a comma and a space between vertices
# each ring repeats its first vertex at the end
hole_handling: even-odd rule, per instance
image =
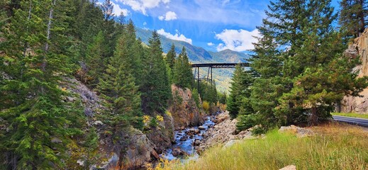
MULTIPOLYGON (((149 38, 152 36, 152 30, 136 28, 136 35, 145 44, 148 44, 149 38)), ((210 63, 210 62, 245 62, 249 55, 243 52, 235 52, 233 50, 223 50, 220 52, 208 52, 203 47, 196 47, 188 42, 172 40, 163 35, 161 37, 162 50, 167 53, 172 43, 175 45, 175 52, 182 52, 183 46, 186 48, 189 60, 192 63, 210 63)), ((233 77, 233 69, 213 69, 213 79, 216 81, 218 91, 229 91, 231 77, 233 77)), ((208 69, 200 69, 201 77, 207 76, 208 69)))

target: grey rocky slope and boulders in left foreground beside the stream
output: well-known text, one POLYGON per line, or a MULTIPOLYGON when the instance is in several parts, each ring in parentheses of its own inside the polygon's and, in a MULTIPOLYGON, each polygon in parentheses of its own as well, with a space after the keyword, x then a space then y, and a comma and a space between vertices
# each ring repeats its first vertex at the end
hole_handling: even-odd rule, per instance
MULTIPOLYGON (((84 131, 96 129, 99 141, 96 150, 99 156, 96 160, 89 160, 89 156, 86 155, 87 152, 77 150, 77 153, 74 153, 75 151, 70 151, 71 157, 75 159, 73 160, 75 166, 72 166, 74 169, 137 169, 147 162, 159 158, 155 150, 157 149, 155 143, 140 130, 131 127, 123 128, 118 134, 114 135, 119 140, 113 138, 108 133, 107 125, 99 120, 99 114, 107 111, 107 108, 104 107, 106 101, 99 98, 96 92, 91 91, 77 79, 65 78, 65 80, 67 83, 62 84, 62 87, 73 94, 72 96, 65 96, 65 101, 81 101, 84 115, 88 117, 87 125, 84 125, 84 131), (75 156, 76 154, 82 155, 75 156), (88 165, 89 167, 87 167, 86 162, 94 165, 88 165)), ((173 120, 167 117, 165 121, 162 121, 162 124, 169 129, 167 131, 171 132, 171 134, 167 132, 163 135, 167 136, 169 139, 167 143, 171 145, 170 137, 173 138, 174 136, 173 120)), ((53 141, 58 142, 57 139, 53 141)))

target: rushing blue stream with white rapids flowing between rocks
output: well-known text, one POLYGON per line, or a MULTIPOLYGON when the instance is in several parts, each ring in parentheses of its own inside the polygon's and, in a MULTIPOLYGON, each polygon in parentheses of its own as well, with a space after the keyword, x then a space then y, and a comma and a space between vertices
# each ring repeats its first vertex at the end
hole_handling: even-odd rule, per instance
POLYGON ((211 128, 213 125, 215 125, 215 123, 211 121, 211 116, 207 116, 206 121, 199 127, 175 131, 175 144, 160 156, 169 160, 176 159, 177 157, 174 157, 172 152, 173 149, 179 148, 183 152, 189 154, 189 159, 198 158, 199 155, 197 154, 196 149, 194 149, 194 142, 196 140, 203 140, 204 132, 206 132, 208 128, 211 128))

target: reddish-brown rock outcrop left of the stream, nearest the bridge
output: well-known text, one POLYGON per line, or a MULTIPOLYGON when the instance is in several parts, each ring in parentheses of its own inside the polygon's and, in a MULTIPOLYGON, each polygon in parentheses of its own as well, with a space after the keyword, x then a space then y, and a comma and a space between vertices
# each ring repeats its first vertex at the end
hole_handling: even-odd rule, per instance
POLYGON ((189 89, 182 89, 172 85, 172 96, 174 100, 169 108, 169 112, 174 118, 174 128, 176 130, 182 127, 193 127, 203 124, 206 115, 196 106, 196 101, 192 98, 189 89))

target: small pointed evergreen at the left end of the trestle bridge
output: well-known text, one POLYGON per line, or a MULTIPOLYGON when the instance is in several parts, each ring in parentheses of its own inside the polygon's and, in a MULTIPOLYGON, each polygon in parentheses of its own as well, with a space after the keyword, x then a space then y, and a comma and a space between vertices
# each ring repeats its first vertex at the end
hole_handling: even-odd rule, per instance
POLYGON ((174 64, 174 74, 172 81, 177 86, 191 89, 191 85, 194 84, 194 77, 191 71, 191 64, 189 64, 188 55, 186 55, 185 47, 180 52, 177 61, 174 64))

